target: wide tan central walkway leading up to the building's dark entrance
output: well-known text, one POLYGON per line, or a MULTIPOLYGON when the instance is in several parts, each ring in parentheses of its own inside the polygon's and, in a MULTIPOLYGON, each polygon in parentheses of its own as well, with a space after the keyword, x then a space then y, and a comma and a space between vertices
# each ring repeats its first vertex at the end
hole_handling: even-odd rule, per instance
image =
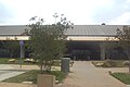
POLYGON ((76 61, 62 87, 127 87, 91 62, 76 61))

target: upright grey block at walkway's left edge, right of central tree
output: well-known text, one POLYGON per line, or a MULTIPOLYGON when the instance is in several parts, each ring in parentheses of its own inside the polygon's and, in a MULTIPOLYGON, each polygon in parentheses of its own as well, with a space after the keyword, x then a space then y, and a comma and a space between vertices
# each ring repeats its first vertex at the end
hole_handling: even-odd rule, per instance
POLYGON ((62 58, 61 71, 64 73, 69 73, 70 58, 62 58))

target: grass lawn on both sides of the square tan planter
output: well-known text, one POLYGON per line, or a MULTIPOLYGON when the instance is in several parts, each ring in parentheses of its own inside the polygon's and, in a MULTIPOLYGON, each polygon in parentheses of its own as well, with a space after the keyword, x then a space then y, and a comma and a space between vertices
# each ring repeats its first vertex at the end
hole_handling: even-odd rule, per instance
MULTIPOLYGON (((34 84, 37 84, 37 74, 39 74, 40 71, 38 70, 32 70, 32 71, 28 71, 24 74, 8 78, 3 82, 6 83, 23 83, 23 82, 32 82, 34 84)), ((60 71, 52 71, 49 74, 51 75, 55 75, 56 80, 58 80, 60 83, 63 82, 63 79, 66 77, 65 73, 62 73, 60 71)))

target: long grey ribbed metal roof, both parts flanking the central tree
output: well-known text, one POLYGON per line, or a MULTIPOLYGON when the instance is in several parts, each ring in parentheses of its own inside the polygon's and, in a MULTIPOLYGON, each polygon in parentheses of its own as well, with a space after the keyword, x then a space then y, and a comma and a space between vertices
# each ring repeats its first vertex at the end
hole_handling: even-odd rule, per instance
MULTIPOLYGON (((68 36, 115 36, 116 29, 122 29, 123 25, 74 25, 73 29, 65 32, 68 36)), ((0 36, 22 35, 25 29, 30 29, 25 25, 0 26, 0 36)))

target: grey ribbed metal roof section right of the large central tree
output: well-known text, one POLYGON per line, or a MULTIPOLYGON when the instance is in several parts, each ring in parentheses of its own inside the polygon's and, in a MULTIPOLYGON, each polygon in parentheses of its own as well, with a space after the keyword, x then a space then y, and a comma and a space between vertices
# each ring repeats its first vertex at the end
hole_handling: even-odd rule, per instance
POLYGON ((123 25, 75 25, 74 29, 66 32, 69 36, 115 36, 117 28, 123 25))

